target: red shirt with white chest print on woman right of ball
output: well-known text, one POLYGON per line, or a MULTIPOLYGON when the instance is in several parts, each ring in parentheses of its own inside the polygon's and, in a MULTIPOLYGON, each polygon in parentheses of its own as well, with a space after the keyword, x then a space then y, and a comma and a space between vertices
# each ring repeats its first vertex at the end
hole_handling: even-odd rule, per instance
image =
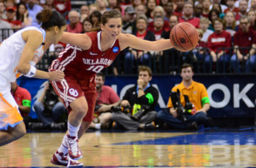
MULTIPOLYGON (((214 32, 213 34, 209 35, 207 46, 211 51, 216 53, 218 48, 231 47, 231 42, 230 33, 223 30, 219 34, 214 32)), ((218 53, 221 51, 222 50, 218 50, 218 53)), ((228 49, 226 50, 226 53, 228 53, 228 49)))

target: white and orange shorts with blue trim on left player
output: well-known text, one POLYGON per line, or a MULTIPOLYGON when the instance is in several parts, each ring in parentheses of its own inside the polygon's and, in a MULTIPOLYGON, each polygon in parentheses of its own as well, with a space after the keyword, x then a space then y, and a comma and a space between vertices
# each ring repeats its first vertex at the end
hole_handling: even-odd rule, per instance
POLYGON ((0 130, 7 130, 9 126, 14 128, 23 121, 18 107, 10 91, 0 90, 0 130))

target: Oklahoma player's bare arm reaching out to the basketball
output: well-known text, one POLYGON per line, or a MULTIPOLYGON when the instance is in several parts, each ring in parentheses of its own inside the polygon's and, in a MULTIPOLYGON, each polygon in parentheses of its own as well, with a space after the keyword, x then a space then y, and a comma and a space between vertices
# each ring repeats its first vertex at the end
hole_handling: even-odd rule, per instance
POLYGON ((173 48, 170 40, 158 40, 158 41, 148 41, 137 38, 132 34, 120 34, 119 35, 121 50, 130 46, 131 48, 145 51, 162 51, 173 48))

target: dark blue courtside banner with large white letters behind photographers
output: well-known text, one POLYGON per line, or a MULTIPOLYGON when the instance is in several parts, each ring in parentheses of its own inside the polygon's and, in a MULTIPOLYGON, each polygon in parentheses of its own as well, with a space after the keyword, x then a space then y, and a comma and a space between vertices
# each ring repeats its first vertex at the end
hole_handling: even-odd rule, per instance
MULTIPOLYGON (((137 83, 137 76, 106 76, 105 85, 109 85, 120 96, 120 99, 125 94, 125 91, 137 83)), ((255 109, 255 93, 256 82, 255 74, 242 75, 195 75, 194 81, 201 82, 205 85, 209 99, 210 110, 208 115, 212 118, 250 118, 254 117, 255 109)), ((166 108, 170 90, 173 86, 181 82, 181 77, 171 75, 153 76, 151 85, 158 88, 159 100, 156 110, 166 108)), ((38 80, 35 78, 20 78, 18 84, 25 87, 32 95, 32 104, 43 91, 44 82, 46 80, 38 80)), ((32 111, 32 115, 34 113, 32 111)))

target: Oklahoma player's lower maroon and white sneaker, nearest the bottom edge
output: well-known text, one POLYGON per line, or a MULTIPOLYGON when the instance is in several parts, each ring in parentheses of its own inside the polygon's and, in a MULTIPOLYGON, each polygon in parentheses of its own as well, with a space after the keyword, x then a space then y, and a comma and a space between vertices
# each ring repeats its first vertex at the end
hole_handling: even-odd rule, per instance
POLYGON ((53 154, 51 158, 51 163, 53 165, 59 165, 59 166, 67 166, 67 167, 82 167, 84 164, 76 161, 76 160, 71 160, 68 156, 68 153, 64 155, 62 152, 56 152, 53 154))

